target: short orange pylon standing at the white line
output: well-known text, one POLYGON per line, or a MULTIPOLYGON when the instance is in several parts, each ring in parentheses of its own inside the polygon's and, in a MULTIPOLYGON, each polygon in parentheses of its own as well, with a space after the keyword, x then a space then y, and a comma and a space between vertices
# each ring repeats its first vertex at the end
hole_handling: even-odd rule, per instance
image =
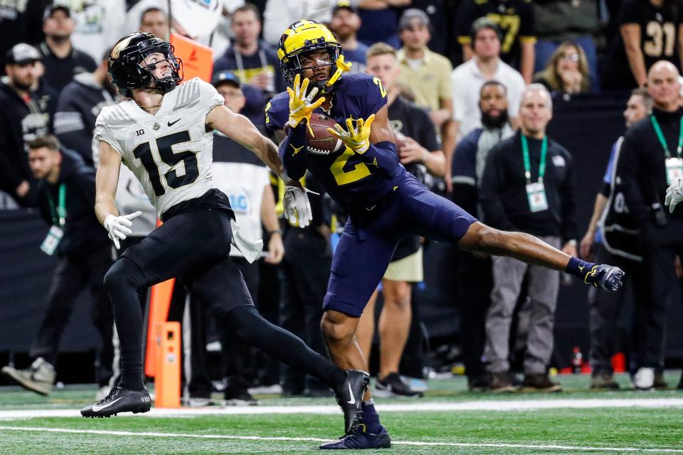
POLYGON ((154 375, 155 407, 180 407, 180 323, 159 322, 154 375))

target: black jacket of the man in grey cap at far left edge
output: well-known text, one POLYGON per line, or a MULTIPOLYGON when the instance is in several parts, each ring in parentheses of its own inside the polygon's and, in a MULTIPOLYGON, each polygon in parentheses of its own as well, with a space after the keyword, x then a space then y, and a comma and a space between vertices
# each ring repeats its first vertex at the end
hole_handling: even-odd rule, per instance
POLYGON ((14 88, 0 82, 0 190, 16 196, 22 181, 35 183, 24 144, 48 133, 49 116, 35 97, 26 102, 14 88))

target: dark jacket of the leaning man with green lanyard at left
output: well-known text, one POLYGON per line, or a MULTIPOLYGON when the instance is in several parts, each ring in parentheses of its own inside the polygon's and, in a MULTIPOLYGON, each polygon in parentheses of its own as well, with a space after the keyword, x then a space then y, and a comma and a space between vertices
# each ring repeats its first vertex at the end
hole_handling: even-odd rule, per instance
POLYGON ((49 225, 55 224, 50 198, 55 208, 59 186, 66 186, 66 223, 64 237, 57 247, 58 256, 83 256, 109 243, 107 231, 95 216, 95 170, 75 151, 62 149, 62 164, 57 183, 38 181, 38 206, 49 225))

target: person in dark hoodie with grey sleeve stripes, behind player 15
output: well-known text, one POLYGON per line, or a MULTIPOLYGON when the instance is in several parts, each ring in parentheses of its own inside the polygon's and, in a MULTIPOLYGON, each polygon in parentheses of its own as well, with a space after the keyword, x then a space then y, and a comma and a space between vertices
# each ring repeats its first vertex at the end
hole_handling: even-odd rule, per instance
POLYGON ((78 151, 85 163, 92 166, 92 136, 95 119, 102 107, 115 104, 116 89, 107 70, 111 49, 102 56, 93 73, 76 75, 59 95, 54 129, 67 149, 78 151))

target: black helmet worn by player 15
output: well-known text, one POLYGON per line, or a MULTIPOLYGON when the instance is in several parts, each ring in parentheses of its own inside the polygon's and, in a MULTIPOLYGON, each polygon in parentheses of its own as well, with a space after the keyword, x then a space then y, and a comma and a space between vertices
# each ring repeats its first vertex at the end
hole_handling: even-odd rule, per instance
POLYGON ((183 61, 173 55, 173 46, 153 33, 135 32, 121 38, 112 48, 109 57, 109 75, 119 93, 132 97, 132 89, 154 87, 161 92, 173 90, 183 80, 183 61), (162 58, 146 65, 144 59, 154 53, 162 58), (152 74, 164 62, 169 64, 170 75, 156 77, 152 74))

